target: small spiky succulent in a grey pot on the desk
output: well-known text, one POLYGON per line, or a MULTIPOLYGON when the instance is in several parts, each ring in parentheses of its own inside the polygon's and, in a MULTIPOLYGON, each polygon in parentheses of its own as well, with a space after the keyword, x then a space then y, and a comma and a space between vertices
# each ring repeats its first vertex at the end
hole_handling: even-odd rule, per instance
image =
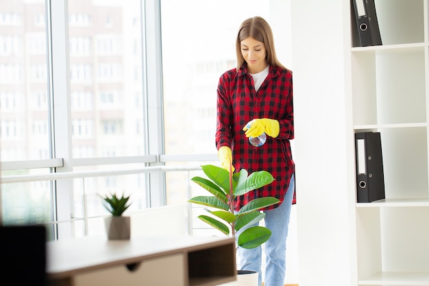
POLYGON ((130 196, 122 194, 121 197, 119 197, 116 193, 111 193, 110 195, 102 196, 101 198, 103 199, 104 206, 111 214, 104 218, 108 239, 130 239, 130 217, 123 215, 131 205, 129 202, 130 196))

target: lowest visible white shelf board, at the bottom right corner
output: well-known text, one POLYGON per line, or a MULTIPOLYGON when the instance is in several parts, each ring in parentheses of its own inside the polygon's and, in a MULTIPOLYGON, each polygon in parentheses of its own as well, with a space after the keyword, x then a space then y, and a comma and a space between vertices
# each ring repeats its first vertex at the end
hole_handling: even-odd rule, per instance
POLYGON ((358 283, 359 285, 429 286, 429 272, 379 272, 358 283))

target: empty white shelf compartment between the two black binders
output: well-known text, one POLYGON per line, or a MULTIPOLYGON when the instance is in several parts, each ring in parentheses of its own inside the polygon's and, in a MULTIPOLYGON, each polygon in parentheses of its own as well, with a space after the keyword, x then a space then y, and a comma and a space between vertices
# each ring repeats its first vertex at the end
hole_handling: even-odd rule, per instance
POLYGON ((354 126, 426 127, 425 49, 407 44, 352 52, 354 126))

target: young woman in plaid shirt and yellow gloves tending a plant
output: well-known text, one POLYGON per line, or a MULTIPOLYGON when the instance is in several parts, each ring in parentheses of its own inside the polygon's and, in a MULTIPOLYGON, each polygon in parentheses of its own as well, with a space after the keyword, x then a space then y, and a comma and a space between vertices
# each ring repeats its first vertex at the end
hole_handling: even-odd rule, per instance
MULTIPOLYGON (((291 205, 295 203, 295 163, 290 140, 294 138, 292 72, 277 59, 271 27, 259 16, 245 20, 236 38, 237 67, 221 75, 217 88, 216 145, 223 168, 269 171, 275 178, 266 187, 235 202, 235 210, 255 198, 273 196, 279 204, 263 211, 272 232, 265 243, 266 286, 284 285, 286 237, 291 205), (250 137, 267 134, 260 147, 250 137)), ((243 230, 241 230, 243 231, 243 230)), ((259 272, 262 285, 262 249, 238 248, 242 270, 259 272)))

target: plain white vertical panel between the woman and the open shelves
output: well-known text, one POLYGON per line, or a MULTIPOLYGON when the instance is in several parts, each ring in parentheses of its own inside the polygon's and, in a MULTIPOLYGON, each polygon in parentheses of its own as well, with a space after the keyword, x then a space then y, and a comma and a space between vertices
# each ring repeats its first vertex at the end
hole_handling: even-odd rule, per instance
POLYGON ((299 286, 356 281, 349 9, 291 0, 299 286))

